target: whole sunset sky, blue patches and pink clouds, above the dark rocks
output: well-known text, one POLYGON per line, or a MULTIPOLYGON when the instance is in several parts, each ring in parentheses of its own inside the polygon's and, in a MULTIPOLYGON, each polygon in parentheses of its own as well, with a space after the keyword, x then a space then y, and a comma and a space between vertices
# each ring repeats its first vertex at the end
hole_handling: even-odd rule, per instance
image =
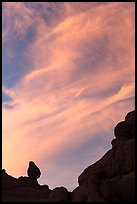
POLYGON ((72 191, 135 108, 135 4, 2 4, 2 167, 72 191))

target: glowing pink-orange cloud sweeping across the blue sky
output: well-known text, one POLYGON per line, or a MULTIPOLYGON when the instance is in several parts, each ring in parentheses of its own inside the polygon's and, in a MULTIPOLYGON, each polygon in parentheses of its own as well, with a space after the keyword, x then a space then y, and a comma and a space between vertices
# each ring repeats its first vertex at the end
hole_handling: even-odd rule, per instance
MULTIPOLYGON (((13 176, 24 174, 33 158, 54 172, 55 158, 101 132, 102 137, 112 133, 111 141, 116 123, 134 108, 134 6, 115 2, 72 15, 75 7, 65 5, 68 15, 47 29, 40 16, 32 22, 34 10, 25 4, 6 4, 8 17, 23 18, 14 24, 17 35, 24 36, 33 23, 37 26, 28 49, 34 68, 14 87, 3 88, 13 101, 3 103, 2 162, 13 176)), ((105 151, 100 144, 94 159, 105 151)), ((67 168, 78 172, 84 166, 67 166, 62 179, 67 168)))

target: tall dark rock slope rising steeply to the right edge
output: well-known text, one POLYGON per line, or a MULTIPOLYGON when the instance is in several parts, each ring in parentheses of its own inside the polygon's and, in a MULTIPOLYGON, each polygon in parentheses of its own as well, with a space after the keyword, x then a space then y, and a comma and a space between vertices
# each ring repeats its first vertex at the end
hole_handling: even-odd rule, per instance
POLYGON ((79 176, 73 202, 134 202, 135 111, 114 129, 112 149, 79 176))

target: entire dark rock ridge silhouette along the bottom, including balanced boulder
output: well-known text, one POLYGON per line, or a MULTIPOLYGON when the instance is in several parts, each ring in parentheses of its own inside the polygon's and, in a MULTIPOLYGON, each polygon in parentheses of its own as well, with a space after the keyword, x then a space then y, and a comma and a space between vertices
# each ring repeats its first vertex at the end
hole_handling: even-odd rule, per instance
POLYGON ((135 111, 114 129, 112 149, 86 168, 72 192, 40 185, 40 170, 29 163, 28 177, 14 178, 2 170, 2 202, 134 202, 135 111))

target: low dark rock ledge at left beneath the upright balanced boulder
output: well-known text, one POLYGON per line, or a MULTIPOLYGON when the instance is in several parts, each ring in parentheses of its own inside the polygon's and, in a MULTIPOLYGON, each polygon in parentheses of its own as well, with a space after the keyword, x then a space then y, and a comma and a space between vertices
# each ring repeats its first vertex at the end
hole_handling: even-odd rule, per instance
POLYGON ((2 202, 45 202, 50 192, 47 185, 36 184, 29 177, 2 175, 2 202))

